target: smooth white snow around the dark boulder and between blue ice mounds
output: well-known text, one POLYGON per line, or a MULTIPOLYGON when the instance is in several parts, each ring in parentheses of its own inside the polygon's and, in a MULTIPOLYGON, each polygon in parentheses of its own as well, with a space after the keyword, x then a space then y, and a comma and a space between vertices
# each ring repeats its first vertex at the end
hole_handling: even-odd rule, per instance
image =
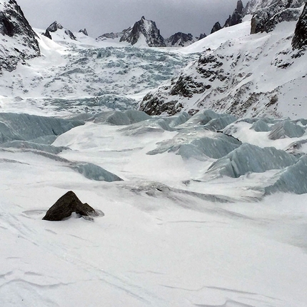
MULTIPOLYGON (((52 144, 64 148, 57 155, 0 149, 1 306, 306 306, 306 192, 261 196, 257 189, 278 170, 199 180, 214 159, 147 153, 197 127, 196 137, 217 132, 196 120, 181 124, 186 114, 131 114, 134 124, 110 124, 107 113, 66 131, 52 144), (180 125, 156 129, 160 121, 180 125), (91 176, 74 169, 86 165, 91 176), (124 181, 99 181, 97 168, 124 181), (42 221, 70 190, 105 216, 42 221)), ((242 124, 259 142, 278 141, 252 124, 231 125, 242 124)), ((292 177, 278 176, 277 191, 296 167, 296 183, 306 183, 295 164, 284 172, 292 177)))

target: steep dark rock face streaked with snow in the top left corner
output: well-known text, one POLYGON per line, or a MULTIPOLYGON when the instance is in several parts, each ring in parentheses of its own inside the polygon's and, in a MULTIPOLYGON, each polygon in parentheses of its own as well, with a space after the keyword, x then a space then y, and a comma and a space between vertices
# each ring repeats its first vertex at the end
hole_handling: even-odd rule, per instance
POLYGON ((15 0, 0 3, 0 74, 40 55, 37 36, 15 0))

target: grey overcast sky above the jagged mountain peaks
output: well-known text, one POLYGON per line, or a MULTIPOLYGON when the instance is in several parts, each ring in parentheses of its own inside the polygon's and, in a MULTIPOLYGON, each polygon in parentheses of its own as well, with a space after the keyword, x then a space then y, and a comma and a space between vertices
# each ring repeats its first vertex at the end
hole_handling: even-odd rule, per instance
MULTIPOLYGON (((209 34, 213 24, 222 26, 237 0, 16 0, 31 26, 46 29, 53 21, 89 36, 119 32, 145 16, 156 21, 164 38, 176 32, 193 36, 209 34)), ((243 1, 246 4, 246 1, 243 1)))

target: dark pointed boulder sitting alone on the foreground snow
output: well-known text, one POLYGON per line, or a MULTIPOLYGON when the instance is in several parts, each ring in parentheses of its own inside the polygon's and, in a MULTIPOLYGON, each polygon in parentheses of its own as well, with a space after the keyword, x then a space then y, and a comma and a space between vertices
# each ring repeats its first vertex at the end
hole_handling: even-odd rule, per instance
POLYGON ((73 212, 89 218, 99 216, 94 208, 91 208, 88 203, 82 203, 73 191, 69 191, 49 208, 43 220, 62 221, 71 216, 73 212))

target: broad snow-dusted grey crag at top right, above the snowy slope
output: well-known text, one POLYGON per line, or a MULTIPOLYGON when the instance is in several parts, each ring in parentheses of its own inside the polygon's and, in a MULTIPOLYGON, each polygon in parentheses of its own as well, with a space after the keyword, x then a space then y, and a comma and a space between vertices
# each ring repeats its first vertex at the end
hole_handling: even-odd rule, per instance
POLYGON ((246 5, 244 14, 253 14, 251 34, 270 32, 282 21, 296 21, 305 0, 258 0, 246 5))

